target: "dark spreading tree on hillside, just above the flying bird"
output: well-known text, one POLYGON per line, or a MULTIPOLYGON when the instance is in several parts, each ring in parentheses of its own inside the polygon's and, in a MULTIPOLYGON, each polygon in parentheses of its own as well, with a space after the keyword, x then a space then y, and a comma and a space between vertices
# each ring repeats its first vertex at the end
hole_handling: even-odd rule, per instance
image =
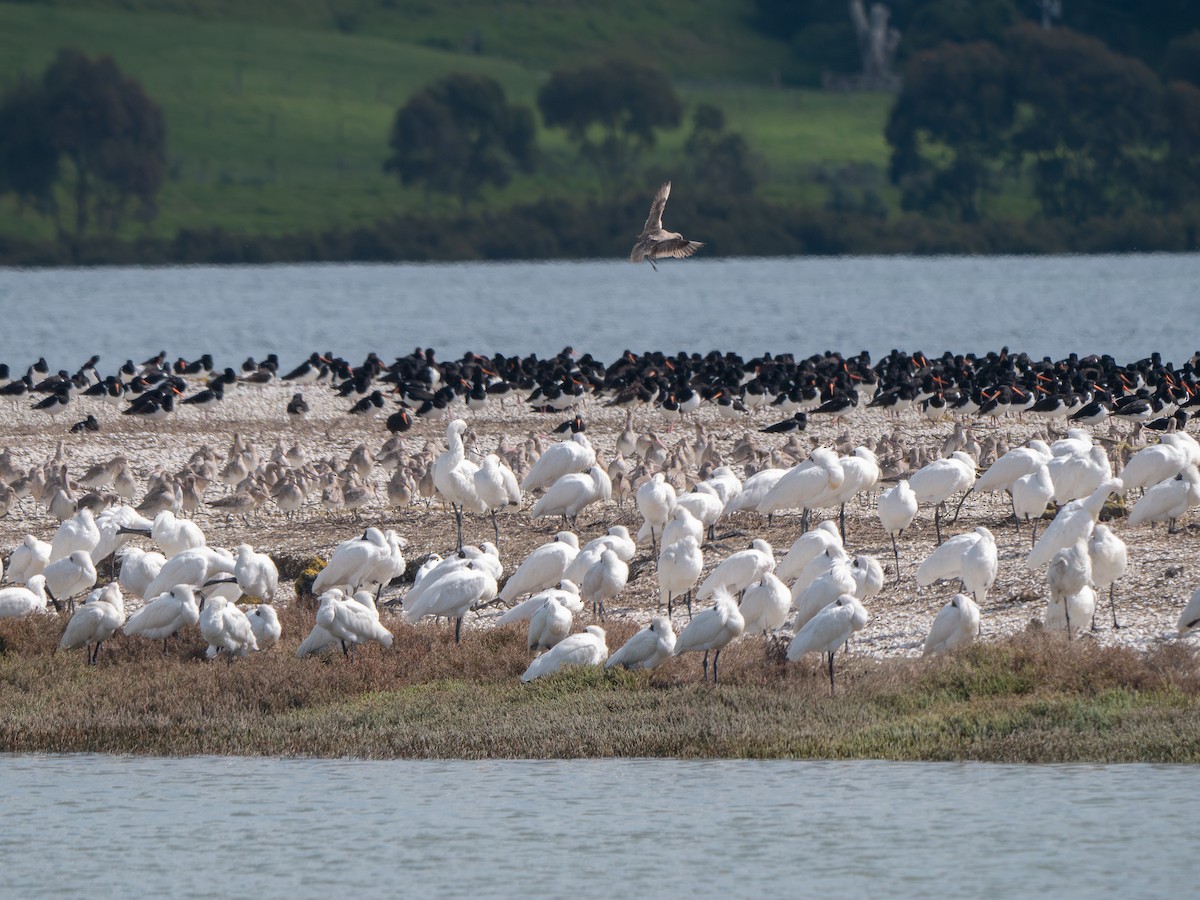
POLYGON ((659 128, 676 128, 683 119, 683 103, 662 72, 618 60, 557 70, 538 91, 538 108, 546 126, 564 128, 610 180, 654 145, 659 128))

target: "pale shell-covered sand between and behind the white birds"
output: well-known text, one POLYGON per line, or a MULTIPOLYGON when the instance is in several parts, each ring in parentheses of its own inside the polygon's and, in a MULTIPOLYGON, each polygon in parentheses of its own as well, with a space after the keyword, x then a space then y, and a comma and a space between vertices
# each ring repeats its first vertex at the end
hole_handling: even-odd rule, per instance
MULTIPOLYGON (((151 472, 178 472, 192 452, 205 444, 224 460, 235 433, 244 440, 254 442, 263 462, 270 460, 276 446, 283 450, 300 446, 310 461, 329 460, 335 468, 344 466, 358 445, 365 445, 374 455, 389 439, 384 418, 391 412, 391 401, 388 401, 389 408, 378 418, 364 419, 347 414, 353 400, 336 397, 328 386, 308 385, 301 390, 311 406, 311 413, 306 421, 296 424, 288 421, 286 413, 288 400, 295 390, 292 385, 278 383, 263 388, 240 386, 230 391, 220 407, 210 413, 181 407, 161 425, 131 421, 137 418, 121 415, 118 409, 100 401, 76 398, 67 410, 53 420, 44 413, 31 410, 28 400, 22 400, 16 406, 0 401, 0 407, 4 407, 0 448, 8 448, 14 462, 28 468, 52 458, 59 442, 62 442, 72 476, 78 476, 94 463, 107 461, 118 454, 124 455, 138 476, 139 493, 136 503, 140 500, 146 476, 151 472), (68 434, 68 426, 88 413, 95 414, 100 420, 101 431, 68 434)), ((625 426, 625 412, 607 408, 602 401, 594 398, 584 401, 577 412, 587 422, 587 434, 601 462, 607 463, 613 457, 616 439, 625 426)), ((492 400, 488 408, 479 413, 460 408, 450 415, 439 413, 418 420, 412 431, 402 436, 404 454, 409 458, 418 457, 426 445, 432 448, 432 452, 440 451, 444 448, 445 425, 455 416, 467 420, 468 437, 473 440, 472 452, 481 456, 496 450, 502 442, 518 444, 530 433, 546 434, 566 419, 568 414, 532 413, 514 396, 503 403, 492 400)), ((680 467, 671 470, 672 480, 680 490, 697 479, 695 463, 689 464, 688 461, 696 444, 697 424, 715 437, 721 461, 732 466, 739 475, 744 474, 746 462, 734 460, 748 456, 748 442, 756 450, 757 457, 751 464, 768 464, 766 461, 774 452, 773 464, 791 466, 814 446, 836 448, 839 452, 846 454, 864 442, 878 445, 884 439, 880 450, 884 476, 890 474, 895 478, 904 468, 904 463, 895 460, 899 454, 911 457, 916 449, 941 456, 944 443, 955 431, 953 420, 929 422, 917 410, 908 410, 896 420, 865 408, 852 412, 841 421, 821 421, 810 416, 808 430, 794 437, 758 431, 779 418, 781 416, 774 410, 764 409, 730 420, 720 418, 715 407, 702 406, 694 415, 676 421, 672 428, 658 410, 644 408, 635 410, 634 427, 640 433, 656 433, 665 444, 668 457, 683 461, 680 467), (798 451, 800 455, 796 455, 798 451)), ((1057 432, 1046 434, 1044 425, 1015 418, 1000 420, 995 425, 968 422, 967 430, 967 437, 983 446, 980 469, 990 462, 989 457, 995 452, 991 448, 997 440, 1007 446, 1018 446, 1032 437, 1054 439, 1060 436, 1057 432)), ((1135 449, 1129 444, 1129 426, 1100 427, 1096 438, 1108 443, 1114 457, 1135 449)), ((204 529, 210 545, 232 548, 241 542, 251 544, 257 550, 272 554, 284 575, 294 572, 296 565, 307 557, 328 557, 338 541, 360 534, 368 524, 395 528, 408 541, 404 554, 409 560, 410 577, 415 560, 431 552, 446 554, 454 551, 454 518, 449 506, 439 499, 427 503, 418 497, 404 508, 389 506, 385 488, 391 476, 390 466, 391 463, 377 464, 371 472, 368 480, 374 487, 374 496, 356 515, 328 509, 320 503, 317 491, 290 521, 284 518, 272 502, 250 514, 248 522, 240 516, 227 517, 223 512, 208 508, 198 509, 194 520, 204 529)), ((646 478, 644 469, 640 468, 637 460, 629 461, 629 469, 635 475, 636 487, 636 480, 646 478)), ((520 478, 521 473, 517 475, 520 478)), ((881 487, 887 486, 884 482, 881 487)), ((214 482, 204 499, 215 500, 230 490, 214 482)), ((930 623, 959 586, 956 582, 941 582, 920 588, 913 580, 917 565, 935 546, 931 509, 922 509, 913 527, 900 538, 901 578, 896 583, 892 544, 875 515, 878 490, 877 487, 869 499, 859 497, 846 511, 847 551, 852 556, 875 556, 883 564, 887 575, 883 592, 866 602, 871 619, 856 637, 854 644, 858 652, 877 656, 918 655, 930 623)), ((551 540, 562 527, 557 520, 530 520, 530 505, 532 498, 527 497, 520 511, 500 516, 499 550, 505 575, 514 571, 529 551, 551 540)), ((823 512, 833 515, 835 511, 823 512)), ((821 518, 820 514, 815 514, 812 523, 821 518)), ((631 493, 623 502, 614 496, 612 502, 583 511, 576 528, 581 546, 604 534, 612 524, 624 524, 631 534, 636 534, 641 516, 631 493)), ((982 620, 982 640, 994 640, 1021 631, 1040 620, 1049 592, 1044 571, 1028 571, 1024 564, 1030 546, 1028 532, 1022 529, 1018 534, 1007 494, 972 494, 958 522, 943 523, 944 535, 966 532, 980 524, 992 530, 1000 551, 1000 574, 983 604, 982 620)), ((1085 629, 1084 640, 1136 648, 1178 640, 1175 636, 1175 622, 1200 583, 1195 566, 1200 536, 1190 527, 1169 535, 1165 526, 1129 527, 1120 517, 1110 522, 1110 526, 1126 541, 1129 553, 1129 569, 1116 588, 1121 628, 1114 629, 1108 612, 1108 598, 1100 596, 1096 629, 1085 629)), ((0 548, 5 562, 7 563, 12 548, 25 533, 49 540, 56 527, 58 520, 31 498, 13 504, 8 515, 0 518, 0 548)), ((706 572, 727 554, 744 548, 754 538, 766 539, 774 547, 776 559, 780 559, 799 533, 798 515, 776 517, 770 526, 756 514, 743 512, 725 518, 716 527, 716 539, 704 544, 706 572)), ((491 521, 468 515, 464 540, 492 540, 491 521)), ((406 588, 407 584, 401 583, 386 589, 384 600, 398 600, 406 588)), ((290 604, 294 599, 290 581, 282 578, 277 602, 290 604)), ((638 547, 630 564, 629 584, 617 601, 610 605, 608 613, 612 617, 647 622, 655 611, 658 600, 655 560, 647 545, 638 547)), ((486 628, 500 611, 498 606, 481 610, 469 617, 464 626, 486 628)), ((685 623, 686 612, 677 607, 676 628, 679 629, 685 623)), ((586 624, 587 620, 577 619, 576 629, 586 624)))

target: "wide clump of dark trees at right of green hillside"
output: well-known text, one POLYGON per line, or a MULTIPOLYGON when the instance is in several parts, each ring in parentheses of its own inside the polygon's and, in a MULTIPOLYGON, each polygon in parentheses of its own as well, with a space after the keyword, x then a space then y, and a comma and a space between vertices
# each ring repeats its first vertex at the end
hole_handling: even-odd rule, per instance
POLYGON ((1000 44, 910 61, 887 126, 890 176, 907 209, 962 221, 1006 175, 1073 223, 1178 208, 1198 179, 1194 101, 1094 38, 1021 23, 1000 44))

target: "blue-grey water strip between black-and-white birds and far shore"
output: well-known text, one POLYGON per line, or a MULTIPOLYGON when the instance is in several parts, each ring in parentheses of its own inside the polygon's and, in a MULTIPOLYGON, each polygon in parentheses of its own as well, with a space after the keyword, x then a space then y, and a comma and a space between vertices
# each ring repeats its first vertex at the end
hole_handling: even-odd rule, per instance
POLYGON ((1200 254, 0 270, 0 361, 893 347, 1183 361, 1200 254))

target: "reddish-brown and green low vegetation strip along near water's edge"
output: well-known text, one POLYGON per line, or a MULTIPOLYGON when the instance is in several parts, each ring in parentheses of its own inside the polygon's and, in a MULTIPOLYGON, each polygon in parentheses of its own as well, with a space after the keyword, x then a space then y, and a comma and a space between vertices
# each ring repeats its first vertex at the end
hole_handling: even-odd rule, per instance
MULTIPOLYGON (((116 638, 86 668, 60 623, 0 622, 0 751, 356 757, 796 757, 1198 762, 1200 673, 1182 644, 1148 654, 1030 631, 946 659, 846 656, 830 697, 815 661, 744 640, 719 688, 700 658, 650 673, 574 670, 522 685, 518 628, 395 626, 391 650, 295 659, 283 644, 205 662, 194 636, 116 638)), ((632 625, 610 624, 617 647, 632 625)))

